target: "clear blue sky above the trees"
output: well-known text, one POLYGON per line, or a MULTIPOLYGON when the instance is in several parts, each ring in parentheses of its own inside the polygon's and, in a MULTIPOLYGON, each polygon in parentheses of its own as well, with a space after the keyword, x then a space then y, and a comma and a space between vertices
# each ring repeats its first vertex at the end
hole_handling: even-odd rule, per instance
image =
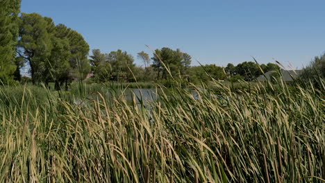
POLYGON ((294 68, 325 51, 325 1, 313 0, 22 0, 22 12, 38 12, 77 30, 91 49, 140 51, 179 48, 202 64, 251 61, 294 68))

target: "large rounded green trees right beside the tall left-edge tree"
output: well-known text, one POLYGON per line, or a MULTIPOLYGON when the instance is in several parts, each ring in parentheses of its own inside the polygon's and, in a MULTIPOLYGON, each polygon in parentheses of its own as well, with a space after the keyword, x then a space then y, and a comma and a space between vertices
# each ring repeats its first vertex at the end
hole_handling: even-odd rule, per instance
POLYGON ((33 83, 83 80, 90 72, 89 45, 83 36, 63 24, 57 26, 49 17, 22 13, 19 48, 31 67, 33 83))

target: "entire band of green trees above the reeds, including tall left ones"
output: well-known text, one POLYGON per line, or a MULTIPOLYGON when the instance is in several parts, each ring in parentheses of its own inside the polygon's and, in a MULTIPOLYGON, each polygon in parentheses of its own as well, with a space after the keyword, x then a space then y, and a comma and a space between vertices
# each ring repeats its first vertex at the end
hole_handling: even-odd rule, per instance
MULTIPOLYGON (((29 68, 31 82, 56 89, 67 89, 72 80, 90 82, 159 82, 169 85, 181 82, 209 82, 210 80, 255 80, 263 72, 276 71, 277 64, 242 62, 226 67, 215 64, 191 66, 192 57, 180 49, 156 49, 152 56, 138 53, 142 66, 134 63, 133 55, 117 50, 101 53, 92 50, 83 36, 64 24, 54 24, 50 17, 38 13, 19 14, 20 0, 2 0, 0 6, 0 83, 8 85, 21 80, 19 72, 29 68), (89 56, 89 57, 88 57, 89 56)), ((315 58, 315 63, 320 63, 315 58)), ((322 62, 324 63, 324 62, 322 62)), ((315 69, 315 67, 310 67, 315 69)), ((319 68, 319 67, 317 67, 319 68)), ((322 68, 322 67, 320 67, 322 68)), ((313 69, 306 69, 313 71, 313 69)), ((309 76, 309 75, 308 75, 309 76)), ((306 78, 306 77, 305 77, 306 78)), ((26 77, 25 77, 26 79, 26 77)))

